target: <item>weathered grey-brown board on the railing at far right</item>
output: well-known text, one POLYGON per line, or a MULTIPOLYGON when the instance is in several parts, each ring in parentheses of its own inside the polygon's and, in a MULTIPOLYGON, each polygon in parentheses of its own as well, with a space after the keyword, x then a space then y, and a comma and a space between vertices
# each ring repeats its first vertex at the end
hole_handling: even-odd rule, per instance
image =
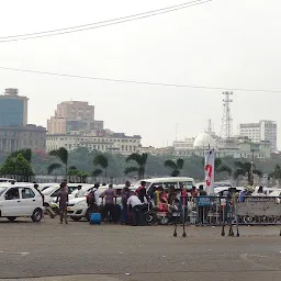
POLYGON ((277 198, 245 198, 245 202, 237 202, 236 210, 240 216, 281 216, 277 198))

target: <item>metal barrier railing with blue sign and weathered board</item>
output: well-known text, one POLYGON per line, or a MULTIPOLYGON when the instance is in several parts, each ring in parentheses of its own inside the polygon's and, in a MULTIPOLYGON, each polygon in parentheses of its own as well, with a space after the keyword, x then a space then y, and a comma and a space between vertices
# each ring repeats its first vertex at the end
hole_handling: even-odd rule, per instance
POLYGON ((281 225, 280 198, 274 196, 247 196, 244 202, 227 196, 191 196, 186 210, 190 225, 281 225))

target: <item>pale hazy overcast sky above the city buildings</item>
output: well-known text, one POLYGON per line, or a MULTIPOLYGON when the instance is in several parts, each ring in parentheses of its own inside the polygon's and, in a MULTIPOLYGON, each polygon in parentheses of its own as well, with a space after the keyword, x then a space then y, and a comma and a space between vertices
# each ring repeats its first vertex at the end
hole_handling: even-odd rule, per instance
MULTIPOLYGON (((190 0, 9 0, 0 2, 0 37, 76 26, 190 0)), ((213 0, 138 21, 36 40, 0 42, 0 67, 234 91, 239 123, 274 120, 281 148, 281 1, 213 0)), ((0 38, 1 40, 1 38, 0 38)), ((106 128, 164 146, 193 137, 212 119, 217 134, 223 90, 43 76, 0 69, 0 91, 29 97, 29 123, 46 126, 61 101, 95 105, 106 128), (178 125, 177 125, 178 124, 178 125), (177 130, 176 130, 177 128, 177 130), (177 136, 176 136, 177 132, 177 136)))

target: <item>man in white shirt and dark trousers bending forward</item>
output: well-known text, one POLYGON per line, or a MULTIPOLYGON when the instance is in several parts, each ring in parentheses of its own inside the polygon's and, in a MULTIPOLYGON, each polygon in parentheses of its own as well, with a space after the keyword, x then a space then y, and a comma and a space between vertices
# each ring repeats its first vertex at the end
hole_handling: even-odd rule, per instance
POLYGON ((144 220, 144 204, 147 204, 147 200, 145 198, 144 203, 139 200, 139 198, 132 192, 131 196, 127 200, 127 209, 130 212, 130 207, 132 206, 132 215, 133 215, 133 226, 145 225, 144 220))

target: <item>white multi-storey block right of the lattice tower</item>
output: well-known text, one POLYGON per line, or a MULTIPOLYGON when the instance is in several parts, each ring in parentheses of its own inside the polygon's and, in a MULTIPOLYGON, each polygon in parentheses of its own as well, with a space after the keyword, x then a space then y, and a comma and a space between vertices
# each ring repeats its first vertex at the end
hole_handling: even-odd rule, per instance
POLYGON ((254 143, 270 142, 271 149, 277 150, 277 123, 274 121, 261 120, 259 123, 240 124, 239 134, 250 138, 254 143))

